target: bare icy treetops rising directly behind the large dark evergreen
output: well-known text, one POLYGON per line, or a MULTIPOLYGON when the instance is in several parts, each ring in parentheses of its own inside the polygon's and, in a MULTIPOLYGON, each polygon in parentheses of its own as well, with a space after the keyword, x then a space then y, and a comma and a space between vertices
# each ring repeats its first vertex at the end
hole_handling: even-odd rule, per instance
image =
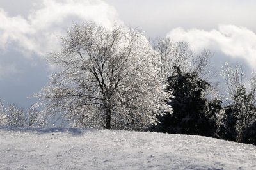
POLYGON ((216 75, 210 65, 212 54, 209 50, 202 50, 195 54, 187 42, 173 43, 170 38, 158 38, 154 42, 154 49, 157 50, 161 60, 161 72, 164 79, 175 73, 175 68, 183 73, 198 75, 201 79, 207 80, 216 75))

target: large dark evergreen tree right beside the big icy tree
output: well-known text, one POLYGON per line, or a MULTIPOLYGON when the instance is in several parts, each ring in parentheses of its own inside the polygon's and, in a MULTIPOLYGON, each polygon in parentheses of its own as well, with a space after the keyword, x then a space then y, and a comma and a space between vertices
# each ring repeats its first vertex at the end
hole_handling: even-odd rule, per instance
POLYGON ((159 132, 214 136, 217 130, 216 112, 221 108, 219 100, 208 102, 203 97, 210 84, 195 73, 176 73, 168 78, 168 91, 175 96, 168 104, 173 114, 159 117, 159 132))

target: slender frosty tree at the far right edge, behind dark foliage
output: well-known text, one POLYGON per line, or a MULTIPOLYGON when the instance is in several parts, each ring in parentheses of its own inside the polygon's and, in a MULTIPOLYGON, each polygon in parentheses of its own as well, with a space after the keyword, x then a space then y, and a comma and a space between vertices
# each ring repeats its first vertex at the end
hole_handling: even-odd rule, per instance
POLYGON ((236 118, 236 140, 241 141, 244 130, 256 121, 256 76, 252 73, 250 88, 246 91, 245 73, 241 65, 230 66, 225 63, 221 74, 227 86, 225 100, 232 116, 236 118))

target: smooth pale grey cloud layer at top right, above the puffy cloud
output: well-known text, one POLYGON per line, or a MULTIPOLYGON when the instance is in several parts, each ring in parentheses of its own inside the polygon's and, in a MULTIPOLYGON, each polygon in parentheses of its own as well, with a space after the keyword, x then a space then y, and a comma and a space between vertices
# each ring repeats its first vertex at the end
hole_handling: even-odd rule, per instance
POLYGON ((140 27, 151 38, 163 36, 175 27, 209 31, 221 23, 244 26, 256 32, 255 0, 106 1, 116 7, 127 25, 140 27))

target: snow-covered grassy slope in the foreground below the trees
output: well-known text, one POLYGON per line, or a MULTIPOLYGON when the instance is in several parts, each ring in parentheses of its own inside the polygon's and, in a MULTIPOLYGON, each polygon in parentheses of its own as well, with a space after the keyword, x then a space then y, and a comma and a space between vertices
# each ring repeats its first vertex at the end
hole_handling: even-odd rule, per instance
POLYGON ((195 135, 0 126, 0 169, 256 169, 256 146, 195 135))

